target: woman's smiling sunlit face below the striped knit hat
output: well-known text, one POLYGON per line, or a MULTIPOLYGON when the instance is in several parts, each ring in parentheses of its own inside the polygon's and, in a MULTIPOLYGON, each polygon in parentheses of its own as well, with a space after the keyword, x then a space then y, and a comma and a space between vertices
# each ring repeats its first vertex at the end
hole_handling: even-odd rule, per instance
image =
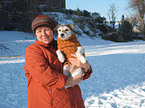
POLYGON ((53 31, 50 27, 47 26, 36 28, 35 35, 38 41, 41 41, 45 44, 49 44, 53 40, 53 31))

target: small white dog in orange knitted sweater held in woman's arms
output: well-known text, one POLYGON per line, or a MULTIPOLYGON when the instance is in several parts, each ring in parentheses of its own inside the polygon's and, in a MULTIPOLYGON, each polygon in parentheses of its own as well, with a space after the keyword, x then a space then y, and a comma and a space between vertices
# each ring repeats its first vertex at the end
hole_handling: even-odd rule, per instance
POLYGON ((55 30, 58 32, 58 50, 56 51, 56 54, 59 61, 64 63, 63 74, 70 78, 81 75, 84 71, 84 69, 80 67, 75 67, 73 72, 70 72, 71 64, 68 61, 68 58, 73 58, 71 54, 76 54, 82 63, 86 63, 85 50, 81 46, 76 35, 73 34, 73 29, 75 29, 75 27, 72 24, 62 24, 55 27, 55 30))

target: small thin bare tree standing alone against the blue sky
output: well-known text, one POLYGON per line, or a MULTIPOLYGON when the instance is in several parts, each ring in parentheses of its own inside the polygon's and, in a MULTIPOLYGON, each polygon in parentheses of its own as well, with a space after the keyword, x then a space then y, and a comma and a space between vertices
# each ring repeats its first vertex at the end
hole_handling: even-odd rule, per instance
POLYGON ((109 9, 107 14, 108 14, 110 23, 112 24, 113 28, 115 28, 115 20, 116 20, 115 14, 116 14, 116 12, 117 12, 117 9, 116 9, 115 5, 111 4, 110 9, 109 9))

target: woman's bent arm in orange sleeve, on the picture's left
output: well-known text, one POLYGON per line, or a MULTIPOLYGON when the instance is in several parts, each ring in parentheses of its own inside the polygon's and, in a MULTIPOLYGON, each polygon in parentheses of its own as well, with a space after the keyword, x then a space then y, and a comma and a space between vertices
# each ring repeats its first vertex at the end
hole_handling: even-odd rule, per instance
POLYGON ((68 78, 53 70, 42 50, 36 46, 28 47, 25 51, 25 71, 45 87, 63 88, 68 78))

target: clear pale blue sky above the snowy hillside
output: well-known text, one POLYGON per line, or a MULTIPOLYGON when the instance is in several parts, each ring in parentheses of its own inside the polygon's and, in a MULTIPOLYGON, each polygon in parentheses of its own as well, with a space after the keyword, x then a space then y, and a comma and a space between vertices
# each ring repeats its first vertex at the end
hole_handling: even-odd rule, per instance
POLYGON ((77 10, 79 8, 80 10, 87 10, 91 13, 97 12, 108 21, 107 12, 110 5, 114 4, 117 8, 116 21, 119 21, 122 14, 125 17, 129 15, 128 2, 129 0, 66 0, 66 9, 77 10))

